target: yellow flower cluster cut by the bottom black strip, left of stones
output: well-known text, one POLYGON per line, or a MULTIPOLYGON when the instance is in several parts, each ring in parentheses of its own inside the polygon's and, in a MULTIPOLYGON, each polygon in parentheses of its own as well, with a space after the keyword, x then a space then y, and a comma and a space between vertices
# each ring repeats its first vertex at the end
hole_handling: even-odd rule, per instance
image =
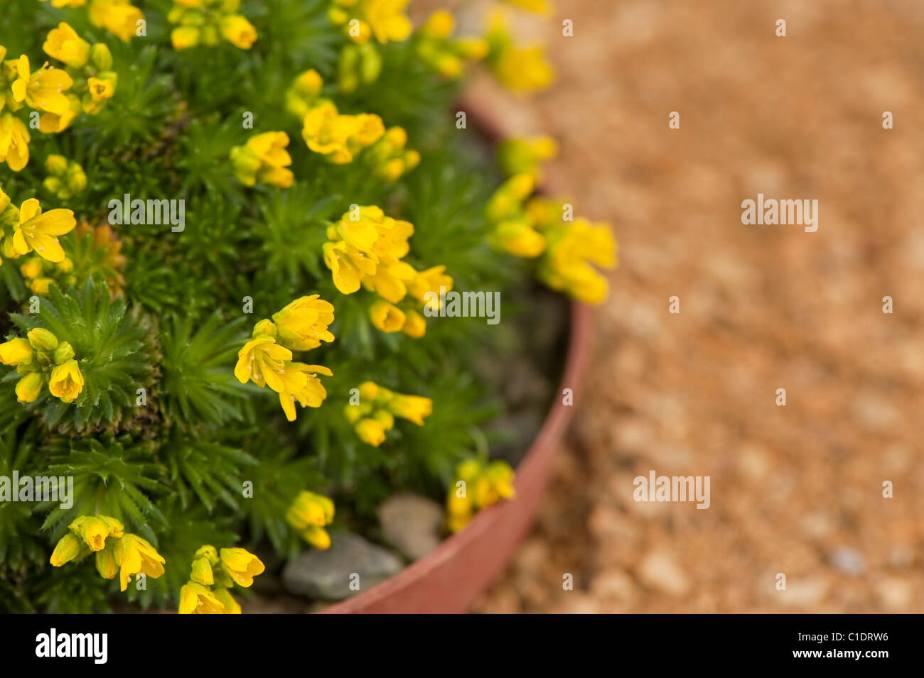
POLYGON ((245 589, 253 577, 266 569, 260 558, 246 549, 202 546, 192 559, 189 581, 179 589, 180 614, 240 614, 240 605, 228 589, 245 589))

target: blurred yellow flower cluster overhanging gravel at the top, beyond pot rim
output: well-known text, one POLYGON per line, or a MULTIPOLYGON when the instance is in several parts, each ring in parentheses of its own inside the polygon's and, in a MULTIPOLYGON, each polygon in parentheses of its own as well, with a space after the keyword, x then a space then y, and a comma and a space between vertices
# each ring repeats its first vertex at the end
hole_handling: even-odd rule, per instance
POLYGON ((507 27, 504 12, 492 13, 486 40, 490 48, 487 63, 507 89, 535 91, 553 83, 555 73, 545 59, 545 50, 537 45, 517 46, 507 27))

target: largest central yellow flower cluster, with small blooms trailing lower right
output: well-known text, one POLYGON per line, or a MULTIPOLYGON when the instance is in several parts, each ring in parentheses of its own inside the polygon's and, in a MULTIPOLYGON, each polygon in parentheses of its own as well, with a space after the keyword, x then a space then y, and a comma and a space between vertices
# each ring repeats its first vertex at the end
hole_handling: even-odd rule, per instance
POLYGON ((327 228, 323 252, 337 290, 352 294, 361 285, 382 297, 370 307, 372 325, 419 338, 427 325, 417 304, 395 304, 407 295, 423 303, 428 291, 441 286, 452 290, 453 279, 444 274, 444 266, 418 271, 401 260, 410 250, 407 239, 413 233, 413 224, 386 217, 381 208, 354 206, 327 228))

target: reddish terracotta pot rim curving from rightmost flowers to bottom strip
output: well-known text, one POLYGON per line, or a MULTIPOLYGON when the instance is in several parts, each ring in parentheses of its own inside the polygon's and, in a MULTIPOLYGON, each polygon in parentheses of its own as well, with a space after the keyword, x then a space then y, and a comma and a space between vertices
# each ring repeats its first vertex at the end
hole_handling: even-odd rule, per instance
MULTIPOLYGON (((559 383, 558 392, 553 400, 552 409, 549 410, 542 427, 537 434, 526 456, 517 466, 517 479, 515 487, 519 492, 521 487, 529 485, 537 476, 541 476, 544 467, 548 464, 554 444, 563 437, 565 428, 571 420, 573 406, 567 406, 561 398, 564 388, 575 390, 580 384, 581 377, 590 354, 590 320, 592 309, 583 303, 571 303, 571 327, 568 334, 568 352, 565 359, 565 371, 559 383)), ((322 614, 348 614, 359 613, 371 604, 382 601, 401 589, 426 578, 433 570, 445 561, 455 558, 467 546, 477 541, 479 536, 493 529, 504 515, 505 511, 516 510, 517 499, 489 506, 478 512, 465 529, 446 538, 430 553, 419 560, 407 565, 395 576, 389 577, 377 586, 363 591, 346 601, 336 602, 330 607, 320 611, 322 614)))

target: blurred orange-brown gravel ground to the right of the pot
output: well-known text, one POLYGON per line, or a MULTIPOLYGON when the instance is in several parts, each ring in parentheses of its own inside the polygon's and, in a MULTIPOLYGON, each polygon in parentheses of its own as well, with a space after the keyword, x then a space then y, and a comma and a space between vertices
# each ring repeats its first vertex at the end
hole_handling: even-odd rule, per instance
POLYGON ((554 4, 514 23, 553 88, 470 95, 560 142, 548 187, 621 263, 537 528, 477 611, 921 612, 924 4, 554 4), (818 199, 818 232, 742 225, 758 193, 818 199), (650 470, 711 476, 711 507, 633 501, 650 470))

